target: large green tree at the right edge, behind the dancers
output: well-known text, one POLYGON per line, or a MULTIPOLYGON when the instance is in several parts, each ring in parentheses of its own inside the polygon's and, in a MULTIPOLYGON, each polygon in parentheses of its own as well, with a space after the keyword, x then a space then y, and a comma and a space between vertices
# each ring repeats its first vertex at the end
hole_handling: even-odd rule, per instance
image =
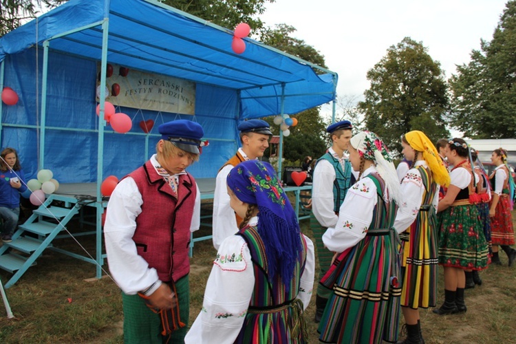
POLYGON ((516 136, 516 1, 508 1, 491 42, 449 80, 451 123, 471 138, 516 136))

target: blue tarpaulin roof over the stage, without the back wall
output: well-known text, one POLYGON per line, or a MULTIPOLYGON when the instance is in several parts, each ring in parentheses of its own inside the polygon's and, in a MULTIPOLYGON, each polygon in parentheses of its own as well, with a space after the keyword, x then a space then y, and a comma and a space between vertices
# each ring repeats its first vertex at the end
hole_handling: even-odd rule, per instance
POLYGON ((297 114, 330 102, 336 74, 317 75, 307 63, 252 39, 235 54, 233 31, 156 1, 71 0, 0 39, 0 61, 51 40, 52 51, 100 61, 101 22, 109 19, 107 61, 240 92, 239 118, 297 114), (73 32, 78 28, 91 28, 73 32))

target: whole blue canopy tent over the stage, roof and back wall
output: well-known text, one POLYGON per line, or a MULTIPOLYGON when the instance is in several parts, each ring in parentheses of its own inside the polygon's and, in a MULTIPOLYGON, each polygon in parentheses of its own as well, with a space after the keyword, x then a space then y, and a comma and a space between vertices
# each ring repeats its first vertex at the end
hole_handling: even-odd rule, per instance
MULTIPOLYGON (((210 145, 189 171, 213 178, 239 146, 239 121, 334 100, 336 73, 248 38, 245 52, 235 54, 232 40, 232 30, 153 0, 64 3, 0 38, 0 88, 20 97, 17 105, 0 103, 1 147, 19 150, 28 178, 44 168, 61 183, 96 182, 101 228, 103 178, 122 177, 147 160, 161 122, 202 125, 210 145), (109 85, 109 64, 194 83, 195 113, 118 107, 133 126, 115 133, 95 115, 97 85, 109 85), (138 123, 149 118, 155 127, 146 133, 138 123)), ((100 229, 97 239, 100 248, 100 229)), ((96 261, 102 265, 99 252, 96 261)))

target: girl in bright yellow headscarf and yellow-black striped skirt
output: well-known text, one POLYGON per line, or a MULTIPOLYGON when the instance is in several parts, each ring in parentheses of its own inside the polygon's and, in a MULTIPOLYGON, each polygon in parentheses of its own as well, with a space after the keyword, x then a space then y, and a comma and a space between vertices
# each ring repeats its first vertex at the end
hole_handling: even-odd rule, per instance
POLYGON ((422 131, 409 131, 401 137, 401 145, 405 159, 412 161, 412 166, 402 178, 404 202, 394 222, 394 228, 402 231, 401 310, 407 330, 407 338, 399 343, 424 343, 418 308, 436 306, 436 212, 439 187, 448 186, 450 177, 436 147, 422 131))

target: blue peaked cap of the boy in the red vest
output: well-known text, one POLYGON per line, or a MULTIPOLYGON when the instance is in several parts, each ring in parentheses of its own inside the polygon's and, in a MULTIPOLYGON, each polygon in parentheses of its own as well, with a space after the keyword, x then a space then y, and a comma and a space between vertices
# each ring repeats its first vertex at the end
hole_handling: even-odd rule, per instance
POLYGON ((204 130, 197 122, 191 120, 172 120, 158 127, 163 140, 172 142, 175 147, 189 153, 199 154, 204 130))

